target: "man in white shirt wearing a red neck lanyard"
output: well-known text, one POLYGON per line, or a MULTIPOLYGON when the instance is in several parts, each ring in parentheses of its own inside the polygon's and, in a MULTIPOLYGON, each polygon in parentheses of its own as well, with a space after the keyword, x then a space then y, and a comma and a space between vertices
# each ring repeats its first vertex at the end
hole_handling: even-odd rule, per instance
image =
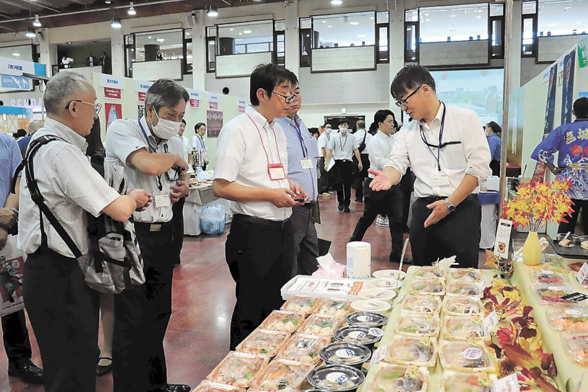
POLYGON ((280 289, 295 274, 290 216, 308 195, 286 176, 286 136, 276 118, 296 99, 287 70, 257 66, 250 76, 245 113, 220 130, 212 190, 232 200, 233 222, 225 244, 236 283, 230 350, 283 304, 280 289))

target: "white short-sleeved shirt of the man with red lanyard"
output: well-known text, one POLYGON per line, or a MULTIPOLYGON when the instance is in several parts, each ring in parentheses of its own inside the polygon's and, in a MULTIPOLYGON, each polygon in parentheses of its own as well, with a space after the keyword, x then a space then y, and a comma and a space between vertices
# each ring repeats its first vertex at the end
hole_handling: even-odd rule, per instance
MULTIPOLYGON (((268 163, 282 163, 288 172, 288 149, 282 127, 268 123, 257 110, 247 106, 245 113, 220 129, 216 146, 215 179, 256 188, 289 188, 288 179, 269 178, 268 163), (266 155, 267 153, 267 155, 266 155)), ((286 220, 292 208, 276 207, 270 202, 230 202, 233 214, 269 220, 286 220)))

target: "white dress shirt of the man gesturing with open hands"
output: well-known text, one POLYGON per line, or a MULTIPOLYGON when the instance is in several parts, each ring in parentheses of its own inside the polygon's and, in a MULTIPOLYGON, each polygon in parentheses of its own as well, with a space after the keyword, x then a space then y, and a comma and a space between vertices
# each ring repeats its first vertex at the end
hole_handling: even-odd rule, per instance
MULTIPOLYGON (((385 165, 394 167, 401 175, 410 165, 416 175, 416 197, 447 197, 455 192, 466 174, 477 177, 479 185, 492 173, 489 166, 490 149, 476 113, 470 109, 447 106, 442 143, 460 143, 447 145, 439 153, 439 166, 442 172, 449 175, 449 185, 432 185, 432 176, 438 172, 437 148, 429 148, 423 142, 419 124, 423 127, 428 143, 438 146, 444 107, 442 103, 430 126, 423 120, 414 120, 403 126, 385 165)), ((479 191, 480 188, 476 187, 472 193, 479 191)))

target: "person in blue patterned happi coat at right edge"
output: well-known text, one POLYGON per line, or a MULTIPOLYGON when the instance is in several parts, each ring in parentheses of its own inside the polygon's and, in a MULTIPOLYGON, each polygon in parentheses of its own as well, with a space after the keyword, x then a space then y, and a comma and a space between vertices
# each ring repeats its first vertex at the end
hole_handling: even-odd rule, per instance
POLYGON ((544 138, 531 154, 531 158, 545 163, 547 169, 557 178, 572 180, 568 195, 574 202, 572 215, 565 217, 558 233, 574 232, 576 221, 582 209, 584 213, 584 234, 588 233, 588 98, 576 99, 572 113, 576 120, 558 126, 544 138), (557 167, 553 165, 553 155, 557 156, 557 167))

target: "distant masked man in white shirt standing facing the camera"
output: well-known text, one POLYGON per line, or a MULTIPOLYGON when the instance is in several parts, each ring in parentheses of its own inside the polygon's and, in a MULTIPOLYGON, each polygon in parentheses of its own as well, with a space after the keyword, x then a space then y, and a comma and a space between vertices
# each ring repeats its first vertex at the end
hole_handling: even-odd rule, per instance
POLYGON ((353 181, 353 160, 352 156, 358 160, 358 167, 361 171, 363 168, 362 159, 359 156, 359 143, 349 132, 347 120, 339 120, 339 133, 332 136, 327 146, 328 151, 325 158, 325 170, 331 158, 335 159, 335 166, 332 173, 333 183, 337 190, 337 202, 339 211, 349 212, 351 203, 351 183, 353 181))

